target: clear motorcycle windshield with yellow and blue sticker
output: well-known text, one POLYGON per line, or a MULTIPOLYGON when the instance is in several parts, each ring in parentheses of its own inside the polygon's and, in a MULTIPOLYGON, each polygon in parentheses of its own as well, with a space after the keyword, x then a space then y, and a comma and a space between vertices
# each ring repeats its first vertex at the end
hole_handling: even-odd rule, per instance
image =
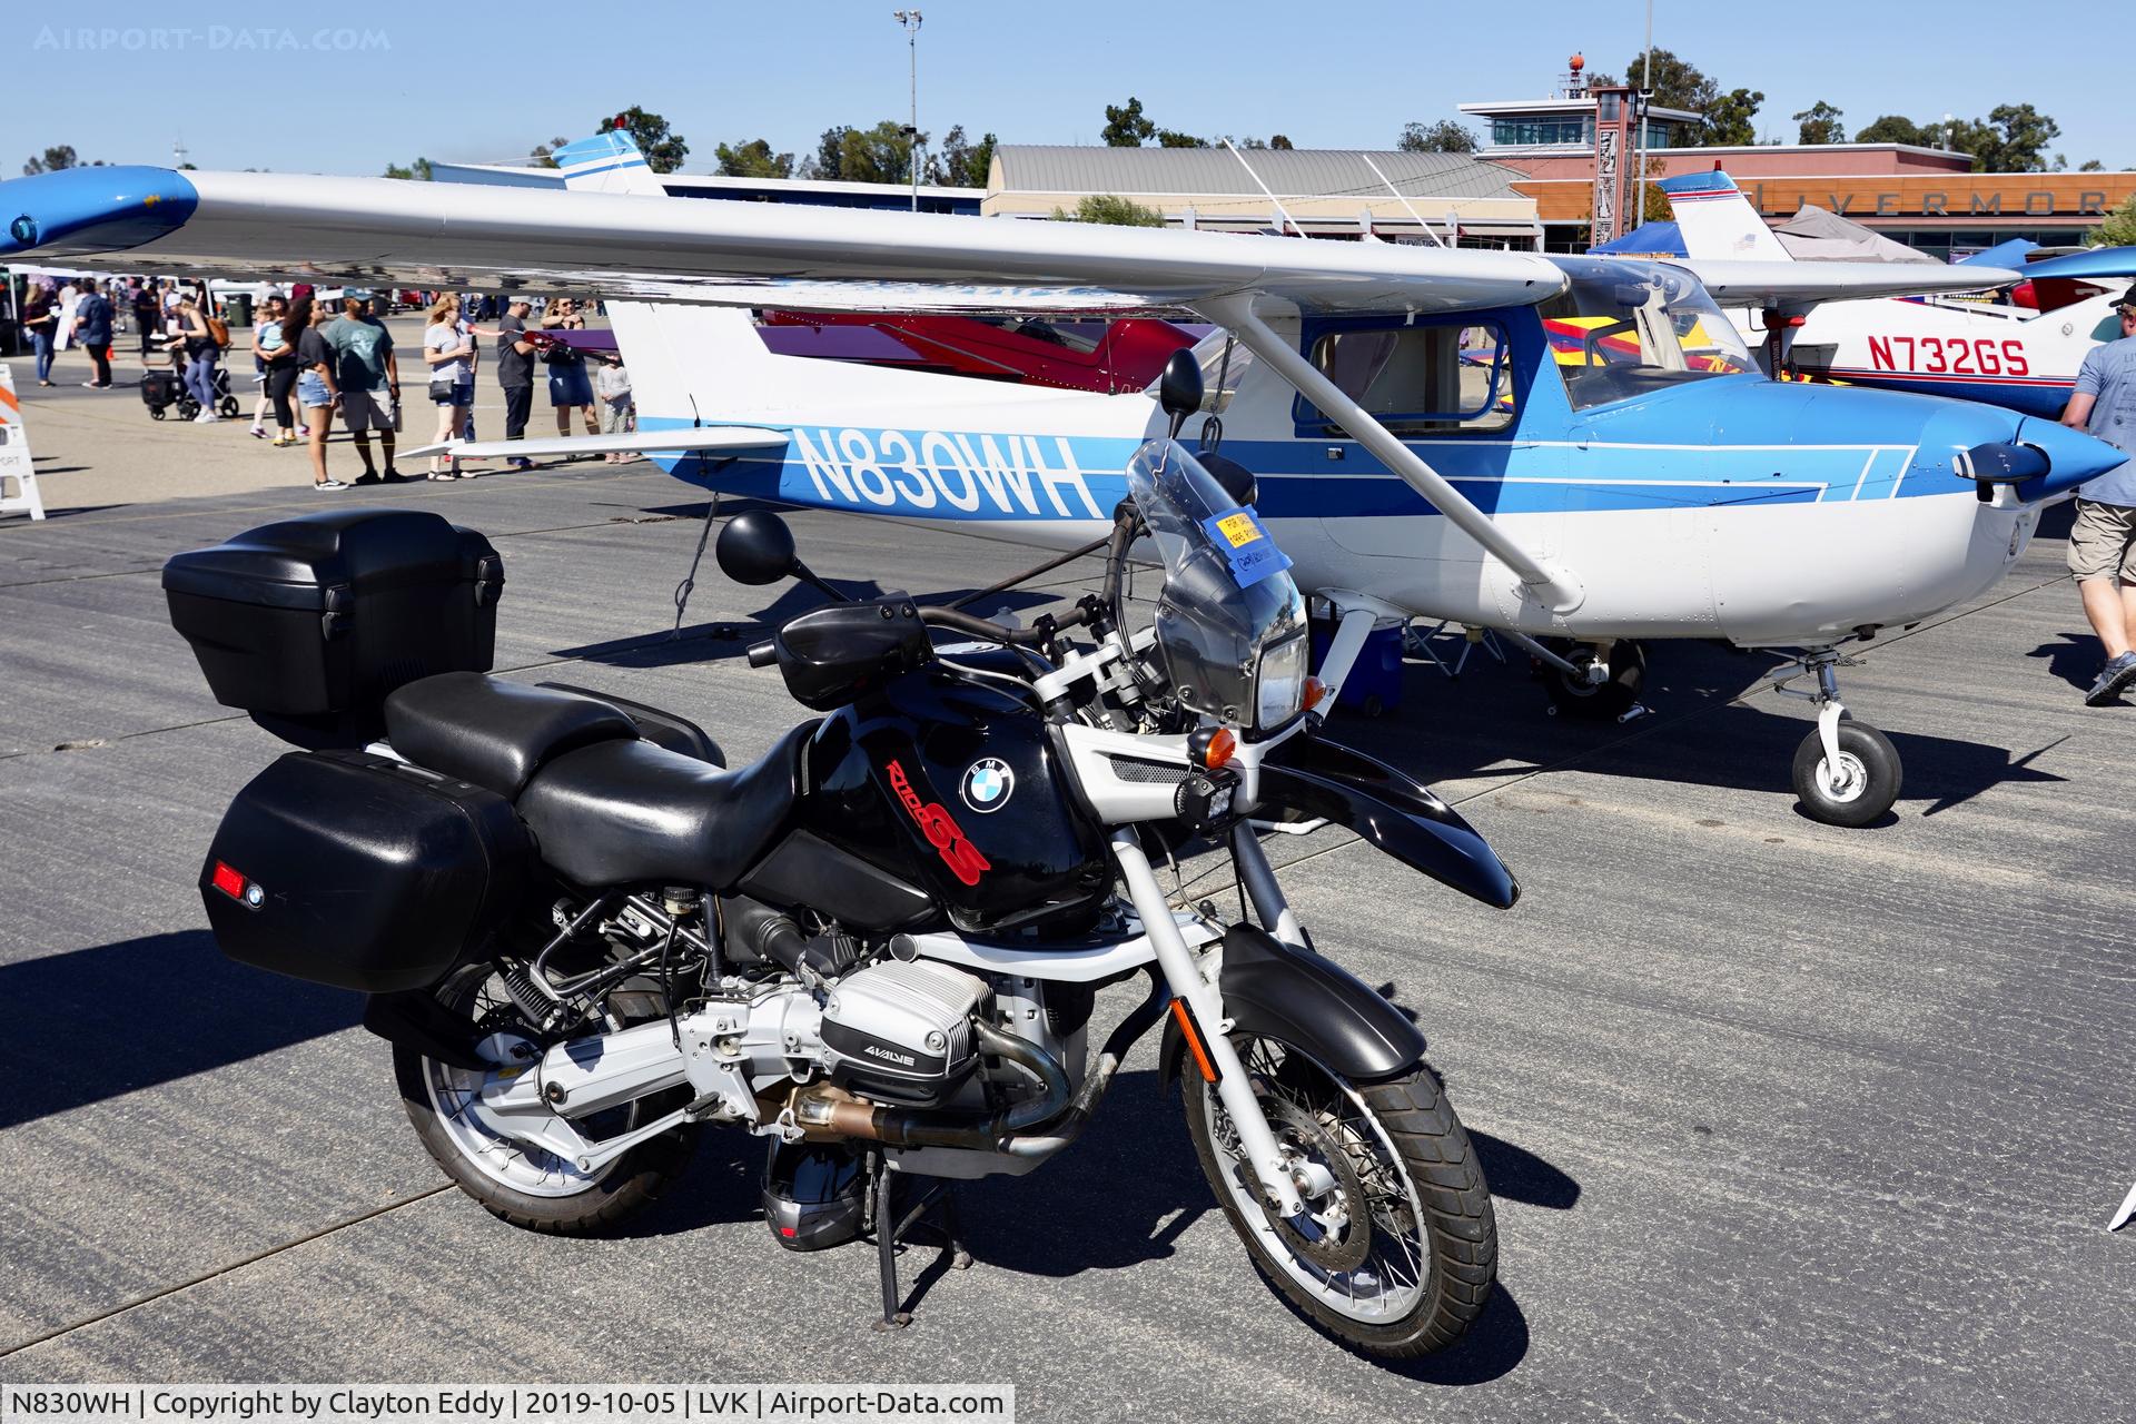
POLYGON ((1164 559, 1158 651, 1179 700, 1243 728, 1297 713, 1305 600, 1260 515, 1235 504, 1175 440, 1136 450, 1128 493, 1164 559))

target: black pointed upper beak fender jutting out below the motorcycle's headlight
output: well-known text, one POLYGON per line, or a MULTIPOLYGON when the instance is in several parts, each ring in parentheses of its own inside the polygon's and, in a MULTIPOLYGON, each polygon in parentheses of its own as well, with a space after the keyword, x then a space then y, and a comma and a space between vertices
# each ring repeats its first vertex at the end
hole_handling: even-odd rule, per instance
POLYGON ((1348 826, 1410 869, 1497 909, 1521 899, 1521 882, 1497 852, 1429 786, 1318 737, 1292 737, 1271 754, 1252 813, 1348 826))

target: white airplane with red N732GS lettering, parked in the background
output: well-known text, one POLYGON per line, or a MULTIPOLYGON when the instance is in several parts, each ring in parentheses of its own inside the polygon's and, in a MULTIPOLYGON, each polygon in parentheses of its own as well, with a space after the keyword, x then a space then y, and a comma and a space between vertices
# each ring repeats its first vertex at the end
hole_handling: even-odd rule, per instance
MULTIPOLYGON (((1683 250, 1698 260, 1752 258, 1794 263, 1794 258, 1749 205, 1726 173, 1681 173, 1660 181, 1683 235, 1683 250)), ((2021 273, 1972 273, 1976 292, 2016 280, 2110 284, 2108 290, 2078 288, 2074 301, 2055 307, 2021 307, 2004 301, 1952 299, 1854 299, 1824 303, 1779 303, 1788 322, 1784 346, 1799 374, 1841 380, 1880 391, 1948 395, 1989 401, 2025 414, 2057 418, 2070 404, 2076 369, 2100 342, 2121 339, 2115 307, 2136 280, 2136 248, 2095 248, 2027 263, 2021 273)), ((1734 310, 1737 327, 1752 339, 1766 335, 1766 316, 1734 310)))

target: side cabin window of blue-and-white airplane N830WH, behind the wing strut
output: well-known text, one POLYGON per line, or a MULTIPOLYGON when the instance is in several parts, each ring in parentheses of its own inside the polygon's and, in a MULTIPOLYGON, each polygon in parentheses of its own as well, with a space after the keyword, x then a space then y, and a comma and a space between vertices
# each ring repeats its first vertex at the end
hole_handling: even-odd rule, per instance
MULTIPOLYGON (((1512 425, 1512 361, 1497 322, 1335 331, 1314 365, 1395 436, 1495 431, 1512 425)), ((1301 421, 1318 412, 1301 401, 1301 421)), ((1344 433, 1320 416, 1326 433, 1344 433)))

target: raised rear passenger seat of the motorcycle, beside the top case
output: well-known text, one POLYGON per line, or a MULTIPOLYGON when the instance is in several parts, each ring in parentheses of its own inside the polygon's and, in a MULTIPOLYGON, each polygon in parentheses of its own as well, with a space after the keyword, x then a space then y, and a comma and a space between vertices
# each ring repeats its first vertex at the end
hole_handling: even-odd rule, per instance
POLYGON ((397 754, 506 798, 566 751, 637 734, 609 702, 485 673, 438 673, 387 698, 387 741, 397 754))

